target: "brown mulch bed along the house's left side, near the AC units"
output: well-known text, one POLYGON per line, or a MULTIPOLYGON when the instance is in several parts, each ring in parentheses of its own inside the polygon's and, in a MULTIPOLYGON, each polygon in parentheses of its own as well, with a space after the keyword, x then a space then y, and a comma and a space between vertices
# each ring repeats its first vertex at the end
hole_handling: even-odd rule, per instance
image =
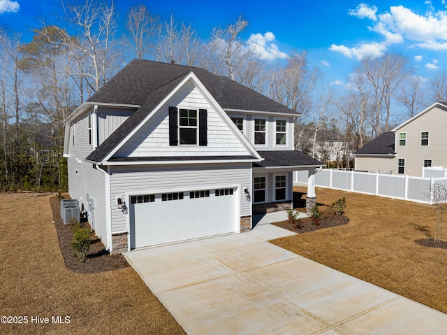
MULTIPOLYGON (((68 224, 64 224, 60 214, 61 203, 60 200, 54 196, 50 197, 50 206, 52 209, 54 227, 57 230, 59 238, 59 245, 61 247, 62 255, 64 256, 65 265, 68 270, 79 273, 98 273, 105 271, 112 271, 123 269, 129 266, 123 255, 110 255, 105 250, 101 240, 91 232, 91 248, 87 253, 87 259, 82 263, 77 257, 73 257, 75 250, 71 248, 73 241, 73 234, 68 224)), ((88 222, 86 222, 89 227, 88 222)))

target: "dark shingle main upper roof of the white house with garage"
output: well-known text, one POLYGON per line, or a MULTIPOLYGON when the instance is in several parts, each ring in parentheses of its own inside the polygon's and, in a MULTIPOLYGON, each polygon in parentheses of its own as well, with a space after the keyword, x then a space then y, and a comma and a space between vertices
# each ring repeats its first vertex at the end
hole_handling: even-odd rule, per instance
POLYGON ((298 115, 263 94, 216 76, 205 69, 133 59, 87 101, 104 104, 139 105, 99 147, 87 157, 101 162, 188 74, 193 72, 223 109, 268 111, 298 115))

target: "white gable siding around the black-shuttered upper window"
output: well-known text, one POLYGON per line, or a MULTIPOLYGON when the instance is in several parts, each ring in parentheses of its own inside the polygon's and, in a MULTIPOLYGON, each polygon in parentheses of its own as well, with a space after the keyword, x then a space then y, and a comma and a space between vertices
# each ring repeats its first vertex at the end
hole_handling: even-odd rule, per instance
POLYGON ((125 143, 114 157, 168 157, 200 155, 251 155, 241 142, 237 129, 230 127, 229 117, 223 118, 192 83, 182 87, 161 107, 147 124, 125 143), (207 110, 207 145, 169 145, 168 108, 207 110))

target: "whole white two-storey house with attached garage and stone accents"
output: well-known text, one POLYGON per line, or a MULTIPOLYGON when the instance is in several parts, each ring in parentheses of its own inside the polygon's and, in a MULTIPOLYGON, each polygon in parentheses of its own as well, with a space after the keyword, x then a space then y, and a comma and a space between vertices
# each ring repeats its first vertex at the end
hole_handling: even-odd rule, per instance
POLYGON ((291 208, 293 171, 323 165, 293 150, 297 116, 224 76, 135 59, 69 115, 68 189, 111 252, 247 231, 291 208))

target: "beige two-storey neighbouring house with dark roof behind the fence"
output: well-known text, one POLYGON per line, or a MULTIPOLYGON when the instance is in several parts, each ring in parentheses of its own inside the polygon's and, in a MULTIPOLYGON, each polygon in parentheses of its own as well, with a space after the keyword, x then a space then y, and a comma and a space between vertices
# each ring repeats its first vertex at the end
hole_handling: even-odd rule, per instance
POLYGON ((356 171, 422 176, 424 167, 445 168, 446 124, 447 104, 432 104, 354 152, 356 171))

